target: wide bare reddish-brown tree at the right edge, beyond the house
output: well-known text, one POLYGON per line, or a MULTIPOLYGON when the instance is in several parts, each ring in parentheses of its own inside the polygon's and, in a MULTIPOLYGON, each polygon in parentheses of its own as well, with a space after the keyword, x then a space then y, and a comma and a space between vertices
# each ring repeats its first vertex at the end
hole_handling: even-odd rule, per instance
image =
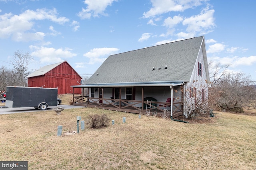
POLYGON ((226 111, 242 107, 256 108, 256 90, 252 86, 254 83, 244 73, 226 73, 218 85, 210 88, 210 103, 226 111))

